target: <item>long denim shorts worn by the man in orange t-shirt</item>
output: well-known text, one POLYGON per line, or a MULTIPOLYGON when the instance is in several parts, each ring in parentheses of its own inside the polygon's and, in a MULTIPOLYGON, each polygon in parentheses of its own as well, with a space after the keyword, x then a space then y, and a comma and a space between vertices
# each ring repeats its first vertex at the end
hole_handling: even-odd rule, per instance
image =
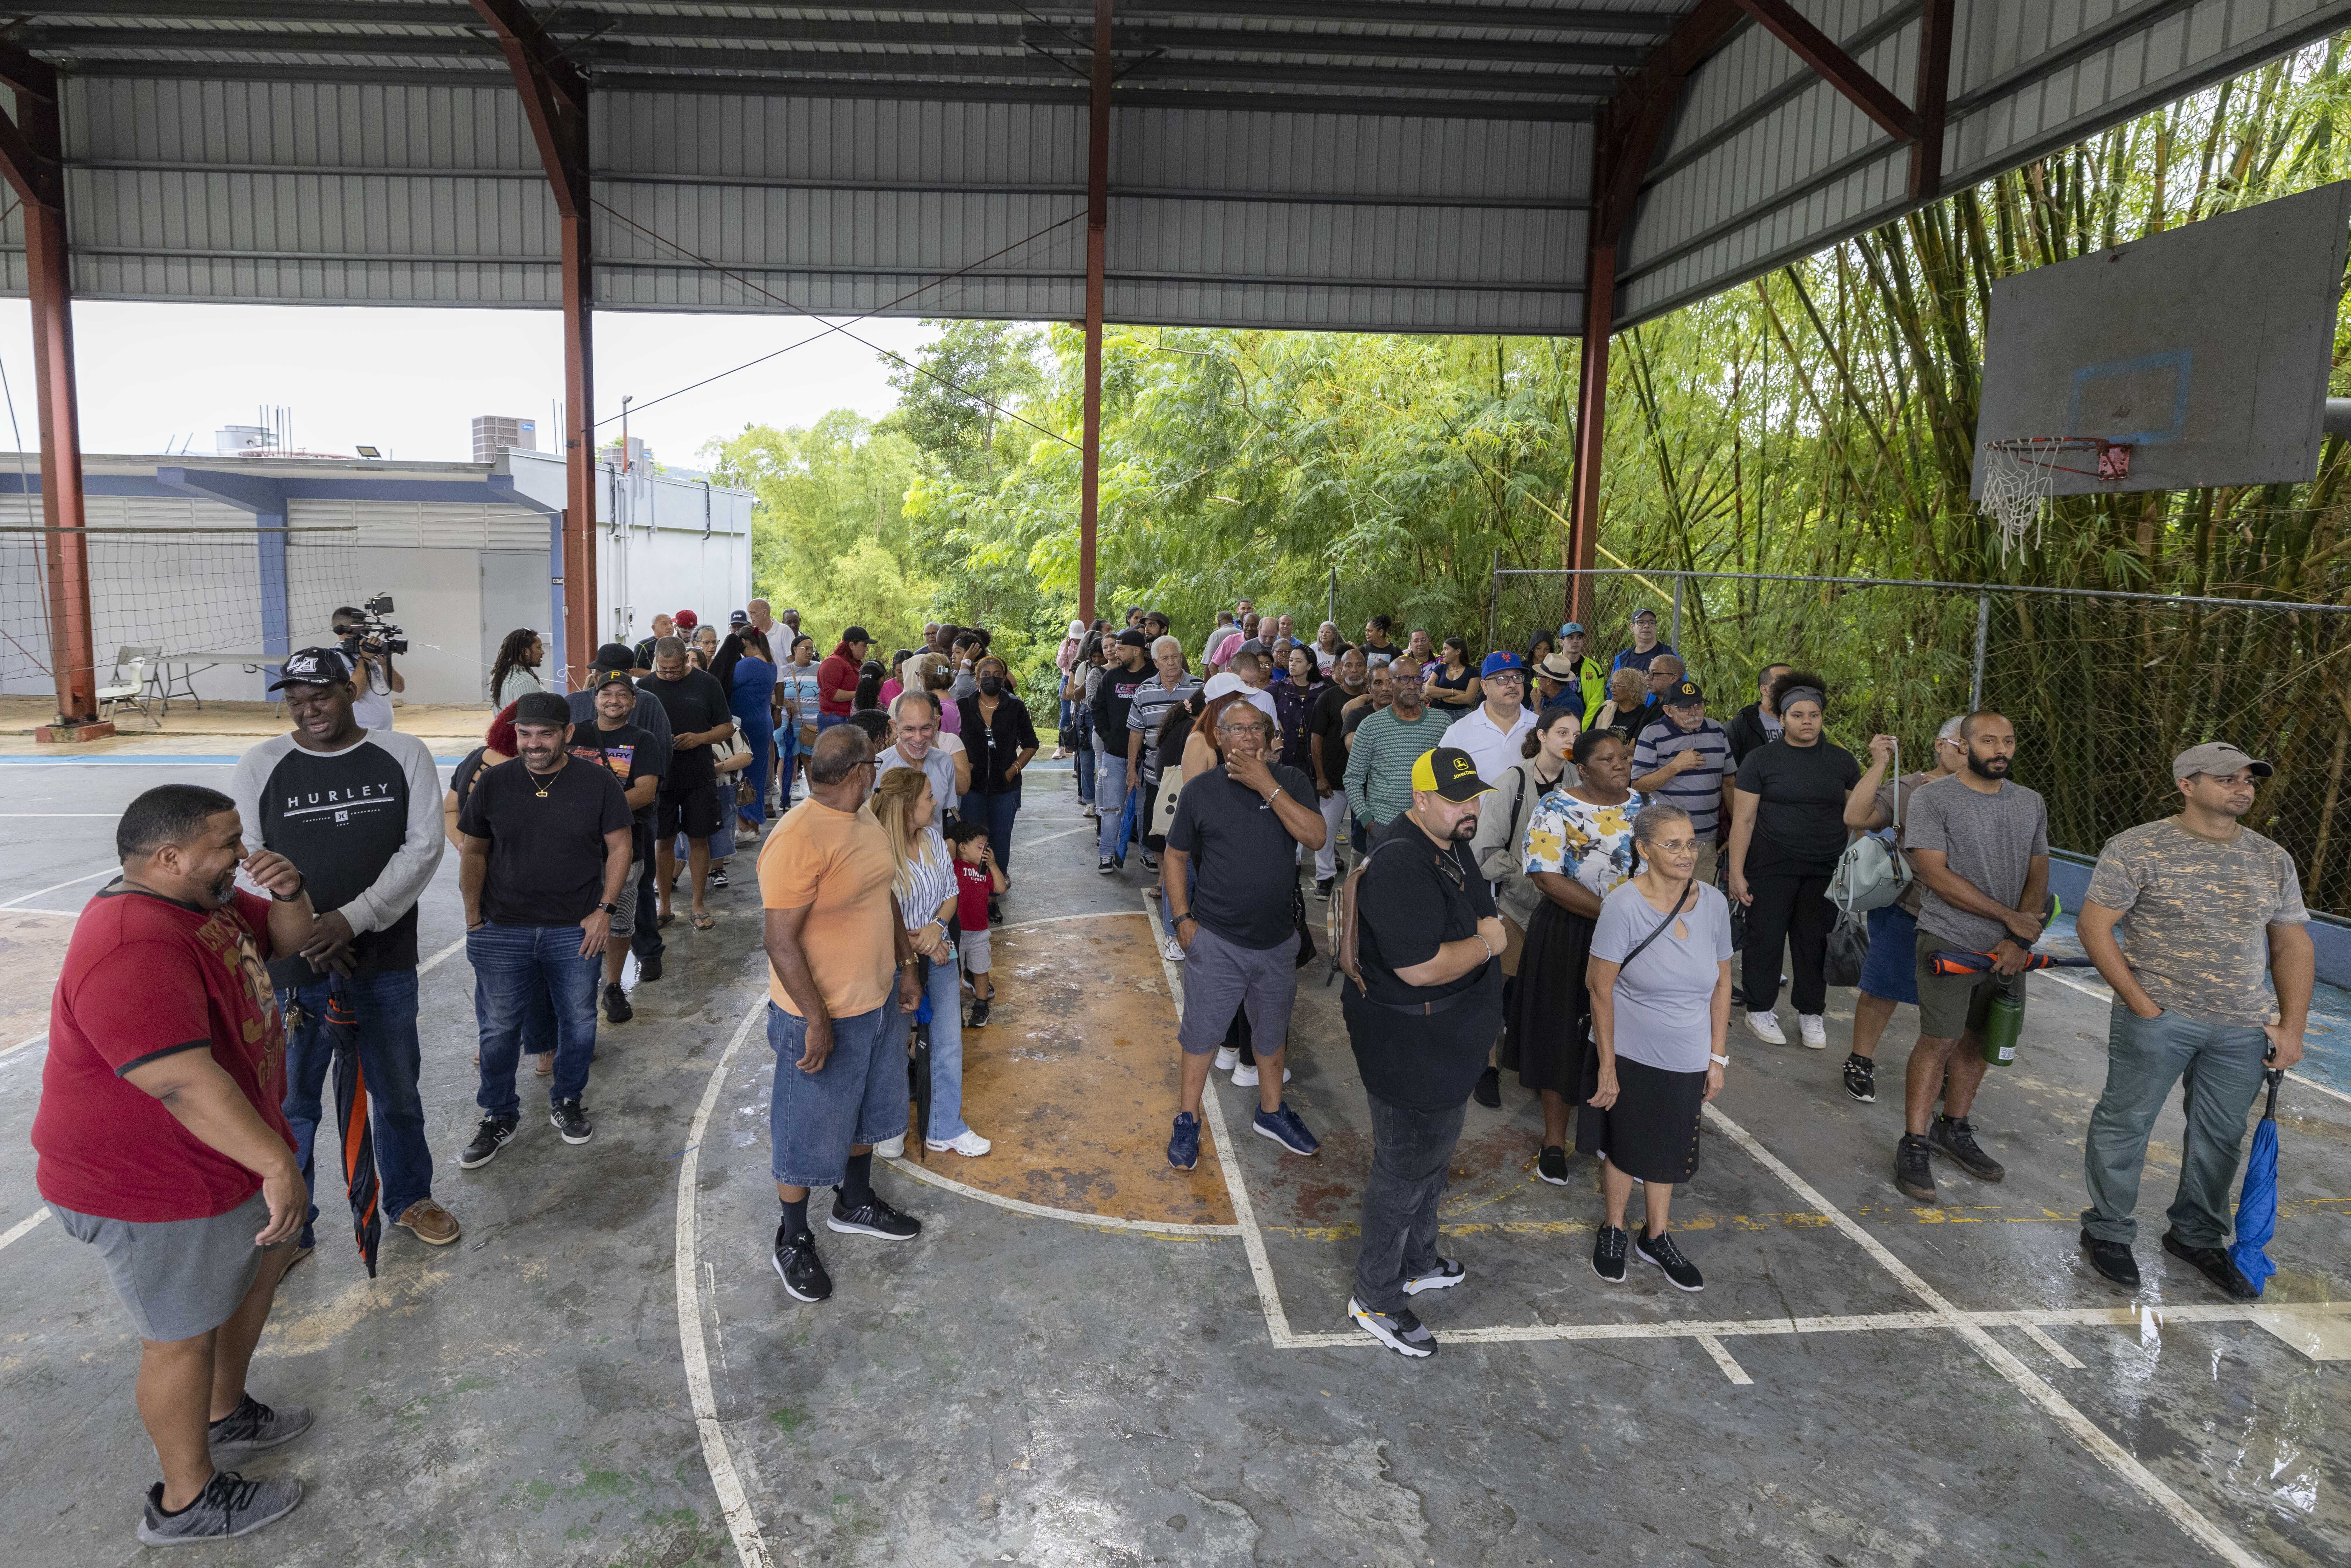
POLYGON ((766 1004, 766 1044, 776 1053, 776 1088, 766 1100, 771 1171, 785 1187, 837 1187, 849 1150, 905 1131, 905 1039, 910 1016, 891 999, 870 1013, 832 1020, 832 1056, 802 1072, 809 1025, 766 1004))

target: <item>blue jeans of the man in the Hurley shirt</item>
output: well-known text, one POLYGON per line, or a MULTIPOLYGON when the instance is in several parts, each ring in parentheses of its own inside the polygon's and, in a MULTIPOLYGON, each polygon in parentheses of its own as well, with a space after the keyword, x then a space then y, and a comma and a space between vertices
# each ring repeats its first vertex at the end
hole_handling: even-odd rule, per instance
POLYGON ((386 969, 371 976, 327 976, 299 990, 277 992, 277 1009, 301 1023, 287 1027, 287 1126, 301 1180, 310 1187, 310 1218, 301 1244, 310 1246, 317 1222, 317 1182, 310 1178, 310 1143, 317 1135, 320 1093, 334 1063, 327 1037, 327 994, 341 992, 360 1020, 360 1074, 367 1079, 369 1126, 376 1135, 381 1211, 397 1220, 416 1199, 433 1197, 433 1147, 426 1143, 426 1103, 416 1093, 423 1048, 416 1041, 416 971, 386 969))

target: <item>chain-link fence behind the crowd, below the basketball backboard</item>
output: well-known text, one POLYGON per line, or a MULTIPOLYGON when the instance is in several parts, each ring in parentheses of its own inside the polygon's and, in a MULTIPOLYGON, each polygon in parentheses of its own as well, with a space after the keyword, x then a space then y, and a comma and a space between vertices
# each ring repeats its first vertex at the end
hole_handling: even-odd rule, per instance
POLYGON ((1526 651, 1566 621, 1589 576, 1587 651, 1657 635, 1728 722, 1766 665, 1829 682, 1829 738, 1862 755, 1871 733, 1928 764, 1935 731, 1970 708, 2017 726, 2017 783, 2048 799, 2050 842, 2095 856, 2116 832, 2177 809, 2170 759, 2231 741, 2276 764, 2252 827, 2302 867, 2313 910, 2351 917, 2351 607, 2269 599, 2020 590, 1886 578, 1794 578, 1646 569, 1498 571, 1493 646, 1526 651))

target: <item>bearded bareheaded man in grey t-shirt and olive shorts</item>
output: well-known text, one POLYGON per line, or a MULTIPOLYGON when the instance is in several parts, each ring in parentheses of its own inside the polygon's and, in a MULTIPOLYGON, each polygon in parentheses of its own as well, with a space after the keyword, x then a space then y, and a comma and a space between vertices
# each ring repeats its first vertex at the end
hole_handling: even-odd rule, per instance
POLYGON ((1911 954, 1918 1044, 1902 1077, 1895 1187, 1921 1204, 1935 1201, 1930 1150, 1942 1150, 1977 1180, 2008 1175, 1975 1143, 1968 1112, 1984 1081, 1984 1053, 1961 1041, 1972 1041, 1996 994, 2024 1006, 2024 961, 2041 940, 2050 889, 2048 806, 2008 778, 2015 726, 1996 712, 1970 712, 1958 724, 1958 741, 1968 750, 1965 766, 1921 785, 1902 818, 1902 844, 1923 896, 1911 954), (1937 976, 1933 954, 1940 947, 1987 952, 1994 964, 1984 973, 1937 976))

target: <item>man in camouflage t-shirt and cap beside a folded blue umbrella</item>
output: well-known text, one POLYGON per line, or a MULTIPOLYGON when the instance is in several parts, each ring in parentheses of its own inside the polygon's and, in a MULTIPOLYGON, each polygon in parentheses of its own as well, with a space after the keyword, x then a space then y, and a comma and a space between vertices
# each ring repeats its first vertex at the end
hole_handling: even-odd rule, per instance
POLYGON ((2280 1070, 2302 1060, 2316 971, 2292 858, 2238 823, 2269 776, 2266 762, 2219 741, 2179 752, 2179 816, 2114 835, 2090 877, 2081 945, 2114 987, 2114 1013, 2106 1091, 2083 1152, 2081 1244, 2121 1286, 2139 1284, 2130 1244, 2146 1135, 2184 1077, 2179 1194, 2163 1251, 2226 1295, 2259 1295, 2226 1253, 2229 1187, 2264 1056, 2280 1070), (2128 922, 2121 945, 2118 922, 2128 922))

